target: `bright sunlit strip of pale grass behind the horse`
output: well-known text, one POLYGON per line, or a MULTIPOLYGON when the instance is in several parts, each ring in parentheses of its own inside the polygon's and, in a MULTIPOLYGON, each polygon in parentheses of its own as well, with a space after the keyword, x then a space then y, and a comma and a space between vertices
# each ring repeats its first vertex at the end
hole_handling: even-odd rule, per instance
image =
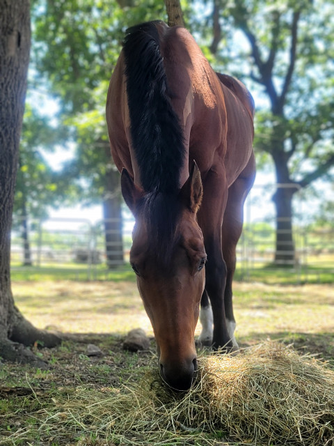
MULTIPOLYGON (((152 335, 135 282, 13 282, 13 293, 16 305, 39 328, 124 335, 141 327, 152 335)), ((241 344, 267 337, 334 334, 332 285, 236 282, 234 312, 241 344)))

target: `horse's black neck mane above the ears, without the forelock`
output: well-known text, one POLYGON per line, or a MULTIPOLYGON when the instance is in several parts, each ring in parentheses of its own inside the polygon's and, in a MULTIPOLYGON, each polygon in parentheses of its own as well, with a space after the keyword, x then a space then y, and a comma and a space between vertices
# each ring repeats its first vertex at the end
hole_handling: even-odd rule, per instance
POLYGON ((184 137, 168 95, 164 59, 154 22, 127 30, 123 47, 132 146, 145 192, 180 187, 184 137))

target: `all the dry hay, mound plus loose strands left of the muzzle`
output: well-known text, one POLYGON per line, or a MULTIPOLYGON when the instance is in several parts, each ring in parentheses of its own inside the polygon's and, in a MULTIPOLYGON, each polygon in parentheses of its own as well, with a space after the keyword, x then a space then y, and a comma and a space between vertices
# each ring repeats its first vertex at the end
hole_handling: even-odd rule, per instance
POLYGON ((49 435, 80 432, 82 445, 334 445, 334 371, 326 364, 267 342, 201 357, 199 375, 186 394, 153 374, 120 389, 77 388, 42 425, 49 435), (89 443, 92 435, 102 443, 89 443))

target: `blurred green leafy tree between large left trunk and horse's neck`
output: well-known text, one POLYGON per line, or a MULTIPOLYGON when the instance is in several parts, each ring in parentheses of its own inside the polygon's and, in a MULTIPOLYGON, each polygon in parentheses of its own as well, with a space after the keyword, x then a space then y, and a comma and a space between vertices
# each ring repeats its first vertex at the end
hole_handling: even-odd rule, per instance
POLYGON ((70 2, 36 0, 33 61, 50 91, 61 99, 61 119, 77 143, 65 176, 74 180, 86 203, 102 202, 109 265, 122 263, 122 199, 104 118, 108 82, 125 29, 166 17, 164 4, 116 0, 70 2), (81 178, 81 180, 79 180, 81 178), (78 183, 79 180, 79 183, 78 183))

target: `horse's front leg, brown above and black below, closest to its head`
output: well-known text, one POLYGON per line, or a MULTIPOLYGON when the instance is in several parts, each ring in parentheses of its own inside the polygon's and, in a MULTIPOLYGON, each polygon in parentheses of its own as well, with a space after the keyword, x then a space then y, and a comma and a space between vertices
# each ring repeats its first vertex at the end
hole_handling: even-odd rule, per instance
MULTIPOLYGON (((228 197, 225 176, 210 171, 203 181, 203 189, 203 202, 198 213, 198 223, 202 229, 207 252, 205 291, 207 291, 212 305, 214 325, 212 345, 214 348, 226 347, 230 349, 232 341, 226 326, 224 305, 227 268, 221 249, 221 224, 228 197)), ((205 299, 202 302, 205 302, 205 299)), ((202 311, 205 312, 205 309, 208 310, 207 307, 204 307, 202 311)))

